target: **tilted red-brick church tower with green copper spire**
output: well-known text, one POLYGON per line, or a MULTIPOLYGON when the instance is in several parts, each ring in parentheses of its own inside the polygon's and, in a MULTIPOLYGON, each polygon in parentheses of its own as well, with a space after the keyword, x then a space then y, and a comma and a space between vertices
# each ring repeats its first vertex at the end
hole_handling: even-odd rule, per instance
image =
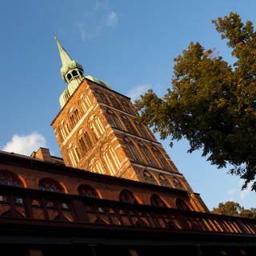
POLYGON ((161 143, 138 122, 130 98, 97 78, 85 76, 82 65, 55 40, 67 87, 51 125, 66 166, 186 190, 194 208, 207 211, 161 143))

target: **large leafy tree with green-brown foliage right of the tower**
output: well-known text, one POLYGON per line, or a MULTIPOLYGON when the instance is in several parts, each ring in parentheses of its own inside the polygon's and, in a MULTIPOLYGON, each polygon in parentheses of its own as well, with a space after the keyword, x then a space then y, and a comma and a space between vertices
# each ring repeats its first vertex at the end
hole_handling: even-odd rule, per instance
POLYGON ((186 138, 188 152, 202 149, 218 168, 232 166, 230 173, 245 179, 246 188, 256 174, 256 33, 235 13, 212 22, 232 48, 234 64, 191 42, 174 58, 167 94, 159 98, 148 90, 134 106, 162 139, 186 138))

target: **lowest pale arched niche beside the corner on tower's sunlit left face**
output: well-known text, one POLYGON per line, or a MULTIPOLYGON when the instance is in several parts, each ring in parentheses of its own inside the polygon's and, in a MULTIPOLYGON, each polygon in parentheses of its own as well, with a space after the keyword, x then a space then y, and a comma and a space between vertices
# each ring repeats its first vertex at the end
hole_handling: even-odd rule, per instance
POLYGON ((112 175, 116 174, 116 172, 121 167, 121 164, 118 159, 118 155, 115 153, 114 148, 106 143, 102 147, 103 159, 106 162, 107 169, 110 171, 112 175))

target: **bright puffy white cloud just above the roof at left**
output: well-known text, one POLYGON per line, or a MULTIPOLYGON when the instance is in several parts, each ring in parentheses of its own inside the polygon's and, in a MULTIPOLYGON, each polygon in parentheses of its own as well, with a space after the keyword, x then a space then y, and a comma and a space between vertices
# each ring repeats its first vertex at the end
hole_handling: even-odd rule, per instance
POLYGON ((28 135, 14 134, 11 141, 7 142, 2 150, 30 155, 33 151, 38 150, 40 146, 46 147, 46 138, 35 131, 28 135))

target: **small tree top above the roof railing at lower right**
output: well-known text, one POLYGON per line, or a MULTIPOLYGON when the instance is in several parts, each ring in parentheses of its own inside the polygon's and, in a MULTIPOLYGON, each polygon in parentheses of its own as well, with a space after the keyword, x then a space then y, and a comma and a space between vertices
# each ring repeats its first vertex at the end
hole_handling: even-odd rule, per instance
POLYGON ((245 209, 238 202, 220 202, 217 208, 211 211, 213 214, 225 214, 235 217, 256 218, 256 208, 245 209))

